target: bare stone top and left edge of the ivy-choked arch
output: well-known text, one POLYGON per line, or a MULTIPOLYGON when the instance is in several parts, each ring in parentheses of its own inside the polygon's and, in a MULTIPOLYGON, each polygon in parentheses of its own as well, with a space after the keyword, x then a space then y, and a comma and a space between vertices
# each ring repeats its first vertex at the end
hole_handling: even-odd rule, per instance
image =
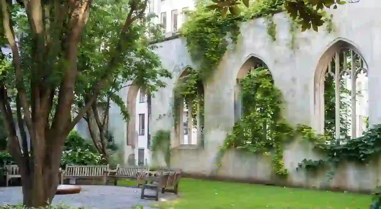
POLYGON ((241 95, 241 84, 240 81, 245 78, 248 74, 252 73, 258 68, 269 69, 267 65, 257 57, 251 56, 249 59, 243 63, 242 67, 239 69, 237 73, 236 83, 234 86, 234 120, 237 122, 240 120, 243 114, 243 106, 242 106, 242 97, 241 95))

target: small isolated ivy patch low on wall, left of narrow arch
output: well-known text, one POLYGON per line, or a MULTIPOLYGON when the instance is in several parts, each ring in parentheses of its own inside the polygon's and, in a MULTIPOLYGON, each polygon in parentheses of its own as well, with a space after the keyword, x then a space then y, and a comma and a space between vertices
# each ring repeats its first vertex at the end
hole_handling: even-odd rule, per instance
POLYGON ((156 135, 152 137, 152 157, 157 156, 157 152, 164 154, 164 160, 167 166, 171 161, 171 132, 166 130, 158 130, 156 135))

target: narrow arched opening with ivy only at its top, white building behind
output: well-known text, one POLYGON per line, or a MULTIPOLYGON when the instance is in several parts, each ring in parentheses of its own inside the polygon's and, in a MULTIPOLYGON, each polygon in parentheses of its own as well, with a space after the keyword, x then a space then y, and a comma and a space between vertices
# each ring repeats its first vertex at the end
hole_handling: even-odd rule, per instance
POLYGON ((176 111, 173 146, 203 147, 204 86, 192 68, 186 68, 180 74, 175 84, 174 97, 176 111))

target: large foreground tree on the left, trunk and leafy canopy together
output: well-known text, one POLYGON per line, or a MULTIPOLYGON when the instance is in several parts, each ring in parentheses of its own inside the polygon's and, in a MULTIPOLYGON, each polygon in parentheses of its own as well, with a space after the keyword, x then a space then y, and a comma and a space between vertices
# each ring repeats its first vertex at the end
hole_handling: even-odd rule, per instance
POLYGON ((164 85, 157 77, 168 74, 144 38, 147 3, 0 1, 0 44, 11 49, 1 53, 0 112, 26 206, 53 199, 66 137, 94 102, 128 79, 164 85))

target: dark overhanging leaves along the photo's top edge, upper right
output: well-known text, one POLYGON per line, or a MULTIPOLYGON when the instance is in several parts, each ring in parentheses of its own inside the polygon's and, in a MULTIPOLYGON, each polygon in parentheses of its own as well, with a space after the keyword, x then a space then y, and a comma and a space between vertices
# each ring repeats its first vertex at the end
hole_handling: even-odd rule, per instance
MULTIPOLYGON (((250 0, 211 0, 213 4, 209 5, 210 9, 222 10, 222 15, 226 16, 227 12, 236 15, 239 13, 239 5, 242 3, 249 7, 250 0)), ((351 0, 351 3, 359 2, 359 0, 351 0)), ((288 14, 302 26, 302 31, 311 27, 317 31, 319 26, 324 24, 325 16, 324 8, 336 9, 337 5, 343 5, 343 0, 285 0, 285 9, 288 14)))

